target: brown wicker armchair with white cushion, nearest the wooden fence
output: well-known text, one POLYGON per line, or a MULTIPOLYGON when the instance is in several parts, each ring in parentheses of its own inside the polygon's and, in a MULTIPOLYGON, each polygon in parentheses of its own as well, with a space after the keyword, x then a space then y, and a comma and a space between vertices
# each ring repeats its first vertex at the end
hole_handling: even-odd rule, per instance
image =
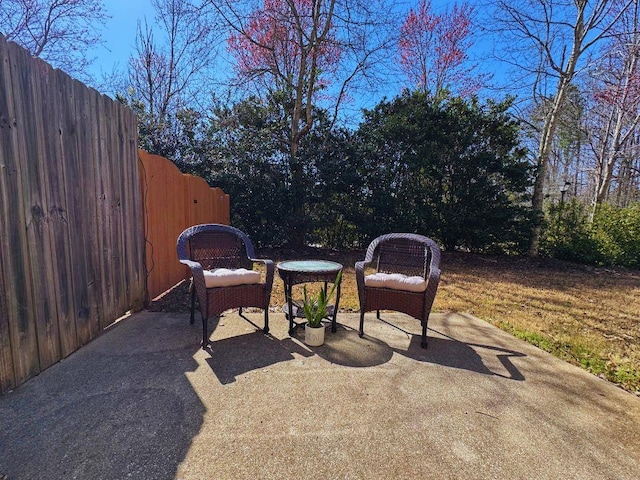
MULTIPOLYGON (((178 258, 181 263, 191 269, 193 287, 191 292, 191 324, 194 323, 195 299, 198 296, 200 313, 202 315, 202 348, 209 345, 208 319, 220 316, 224 311, 232 308, 258 307, 264 309, 265 333, 269 332, 269 300, 273 286, 274 264, 271 260, 256 259, 253 244, 249 237, 237 228, 227 225, 204 224, 187 228, 180 234, 177 242, 178 258), (254 263, 263 263, 266 275, 251 271, 254 263), (234 274, 236 269, 253 274, 252 283, 246 280, 226 279, 224 286, 214 284, 205 279, 213 269, 230 269, 234 274), (264 278, 264 280, 263 280, 264 278), (256 283, 257 281, 257 283, 256 283), (227 285, 227 284, 231 285, 227 285), (243 284, 237 284, 243 283, 243 284)), ((219 270, 223 272, 223 270, 219 270)), ((220 283, 220 282, 218 282, 220 283)))

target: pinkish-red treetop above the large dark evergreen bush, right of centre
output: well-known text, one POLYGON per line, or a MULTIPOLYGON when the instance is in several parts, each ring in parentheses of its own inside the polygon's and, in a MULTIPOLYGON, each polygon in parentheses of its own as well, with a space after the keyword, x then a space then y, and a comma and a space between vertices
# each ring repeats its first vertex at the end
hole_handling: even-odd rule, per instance
POLYGON ((446 92, 470 95, 482 79, 468 65, 473 7, 455 4, 450 12, 436 14, 431 2, 422 0, 411 9, 400 31, 400 64, 418 89, 440 98, 446 92))

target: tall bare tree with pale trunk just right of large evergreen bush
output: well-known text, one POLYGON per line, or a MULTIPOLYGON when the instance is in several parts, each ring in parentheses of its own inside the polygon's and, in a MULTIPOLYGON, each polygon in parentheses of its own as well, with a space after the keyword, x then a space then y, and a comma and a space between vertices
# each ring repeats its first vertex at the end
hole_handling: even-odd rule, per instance
POLYGON ((541 234, 547 166, 567 92, 583 68, 586 55, 611 33, 632 0, 498 0, 497 23, 505 36, 505 53, 533 80, 533 100, 553 98, 538 135, 532 206, 538 221, 529 254, 537 255, 541 234), (549 91, 552 92, 549 94, 549 91))

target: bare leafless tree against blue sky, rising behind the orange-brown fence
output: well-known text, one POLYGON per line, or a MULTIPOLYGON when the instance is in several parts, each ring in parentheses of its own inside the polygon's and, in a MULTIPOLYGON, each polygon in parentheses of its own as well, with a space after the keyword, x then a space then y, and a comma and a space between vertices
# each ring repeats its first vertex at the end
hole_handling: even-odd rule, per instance
POLYGON ((189 163, 182 141, 189 129, 194 133, 194 117, 201 116, 199 110, 206 110, 212 96, 208 69, 216 34, 212 19, 190 0, 151 3, 156 29, 138 24, 135 53, 119 95, 138 114, 141 148, 189 163))

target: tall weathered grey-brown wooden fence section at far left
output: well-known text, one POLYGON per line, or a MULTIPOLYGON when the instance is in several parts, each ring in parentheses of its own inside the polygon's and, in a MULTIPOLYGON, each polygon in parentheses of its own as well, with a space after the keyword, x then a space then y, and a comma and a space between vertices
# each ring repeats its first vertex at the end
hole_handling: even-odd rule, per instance
POLYGON ((130 109, 0 35, 0 394, 142 306, 136 143, 130 109))

